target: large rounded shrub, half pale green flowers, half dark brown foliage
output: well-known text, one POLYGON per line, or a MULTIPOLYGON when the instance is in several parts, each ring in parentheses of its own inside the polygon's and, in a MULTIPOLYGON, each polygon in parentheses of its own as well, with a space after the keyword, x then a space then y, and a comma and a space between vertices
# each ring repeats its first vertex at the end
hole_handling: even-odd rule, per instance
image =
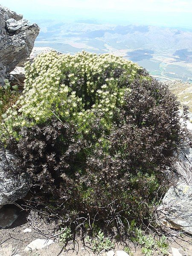
POLYGON ((186 136, 178 106, 130 61, 50 52, 26 65, 1 140, 47 209, 75 227, 127 230, 149 216, 172 150, 186 136))

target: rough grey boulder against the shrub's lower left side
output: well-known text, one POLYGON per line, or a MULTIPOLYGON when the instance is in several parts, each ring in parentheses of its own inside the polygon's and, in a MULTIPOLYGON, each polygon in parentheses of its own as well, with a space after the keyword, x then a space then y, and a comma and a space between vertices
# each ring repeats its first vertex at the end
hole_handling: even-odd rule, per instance
POLYGON ((0 208, 26 196, 29 179, 26 175, 11 175, 17 171, 17 159, 8 151, 0 151, 0 208))

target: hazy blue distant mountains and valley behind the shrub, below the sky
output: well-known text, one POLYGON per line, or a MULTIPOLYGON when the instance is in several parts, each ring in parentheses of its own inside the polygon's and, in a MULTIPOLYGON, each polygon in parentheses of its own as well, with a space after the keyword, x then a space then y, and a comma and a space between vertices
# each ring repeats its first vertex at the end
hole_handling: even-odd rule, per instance
POLYGON ((157 26, 115 26, 96 20, 40 20, 36 47, 63 53, 110 52, 145 67, 161 80, 192 82, 192 31, 157 26))

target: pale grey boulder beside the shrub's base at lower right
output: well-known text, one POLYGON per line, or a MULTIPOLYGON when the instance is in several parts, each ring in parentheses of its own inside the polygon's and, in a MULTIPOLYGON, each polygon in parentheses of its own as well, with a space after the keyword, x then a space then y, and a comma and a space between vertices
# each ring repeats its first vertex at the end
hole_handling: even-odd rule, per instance
POLYGON ((179 181, 169 188, 158 211, 161 224, 192 234, 192 186, 179 181))

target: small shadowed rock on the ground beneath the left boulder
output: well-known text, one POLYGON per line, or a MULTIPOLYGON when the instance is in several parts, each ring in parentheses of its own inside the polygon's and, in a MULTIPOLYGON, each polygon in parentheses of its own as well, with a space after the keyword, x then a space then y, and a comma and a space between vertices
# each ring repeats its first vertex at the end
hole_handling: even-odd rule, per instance
POLYGON ((10 227, 18 218, 17 210, 13 207, 3 207, 0 209, 0 227, 10 227))

